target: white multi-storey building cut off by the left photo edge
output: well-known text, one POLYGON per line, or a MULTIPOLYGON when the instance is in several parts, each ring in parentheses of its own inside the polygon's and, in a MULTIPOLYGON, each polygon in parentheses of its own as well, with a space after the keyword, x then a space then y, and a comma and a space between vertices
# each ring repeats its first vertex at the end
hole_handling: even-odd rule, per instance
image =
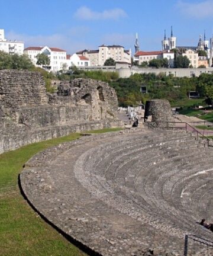
POLYGON ((4 29, 0 29, 0 50, 9 54, 22 55, 24 53, 24 42, 5 39, 4 29))

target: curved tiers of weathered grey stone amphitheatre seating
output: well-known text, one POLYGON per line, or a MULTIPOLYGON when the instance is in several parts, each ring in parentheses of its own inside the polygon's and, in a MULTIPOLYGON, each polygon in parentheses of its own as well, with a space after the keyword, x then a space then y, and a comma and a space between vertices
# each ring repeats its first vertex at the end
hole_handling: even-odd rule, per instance
MULTIPOLYGON (((212 240, 196 223, 213 222, 212 153, 185 132, 88 136, 34 156, 21 186, 38 212, 101 255, 183 255, 186 234, 212 240)), ((189 242, 188 256, 206 248, 189 242)))

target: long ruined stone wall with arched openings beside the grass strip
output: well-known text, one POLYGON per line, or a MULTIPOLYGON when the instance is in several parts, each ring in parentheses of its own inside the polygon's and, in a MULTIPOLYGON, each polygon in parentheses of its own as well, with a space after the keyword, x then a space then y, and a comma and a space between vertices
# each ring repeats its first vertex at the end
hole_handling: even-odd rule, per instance
POLYGON ((105 82, 59 82, 46 91, 38 72, 0 71, 0 153, 70 132, 121 126, 117 95, 105 82))

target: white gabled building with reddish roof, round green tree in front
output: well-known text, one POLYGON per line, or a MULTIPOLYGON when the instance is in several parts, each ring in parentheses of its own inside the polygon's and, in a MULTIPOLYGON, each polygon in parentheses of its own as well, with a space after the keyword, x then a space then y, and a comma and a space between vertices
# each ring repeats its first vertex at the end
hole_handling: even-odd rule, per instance
MULTIPOLYGON (((53 48, 53 47, 27 47, 24 49, 24 54, 27 55, 33 62, 35 66, 37 65, 37 55, 44 53, 45 55, 49 56, 50 58, 50 65, 46 67, 49 71, 57 72, 62 69, 67 69, 67 58, 66 58, 66 51, 53 48)), ((42 68, 42 66, 40 66, 42 68)))

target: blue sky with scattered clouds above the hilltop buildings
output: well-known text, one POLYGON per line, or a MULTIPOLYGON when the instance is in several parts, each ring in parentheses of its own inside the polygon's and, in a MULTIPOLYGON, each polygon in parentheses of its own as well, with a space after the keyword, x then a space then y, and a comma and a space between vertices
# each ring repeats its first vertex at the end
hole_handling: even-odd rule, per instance
POLYGON ((0 28, 24 47, 59 47, 73 54, 120 44, 134 52, 161 50, 170 36, 178 46, 196 46, 199 35, 213 37, 213 0, 0 0, 0 28))

